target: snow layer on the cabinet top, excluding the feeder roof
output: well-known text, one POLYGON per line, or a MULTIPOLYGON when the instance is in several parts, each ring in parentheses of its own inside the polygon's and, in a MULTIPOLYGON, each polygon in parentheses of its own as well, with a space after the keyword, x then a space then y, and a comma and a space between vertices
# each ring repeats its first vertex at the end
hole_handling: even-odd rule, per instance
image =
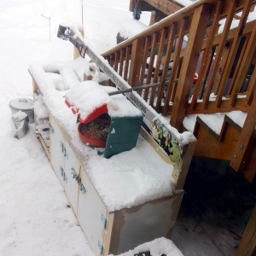
MULTIPOLYGON (((113 155, 110 159, 98 154, 99 148, 89 147, 80 141, 77 116, 67 108, 63 98, 71 90, 64 85, 63 70, 64 78, 65 73, 69 73, 67 77, 73 77, 73 83, 69 84, 79 86, 84 82, 79 82, 78 76, 73 76, 77 73, 77 67, 80 67, 76 61, 68 62, 66 66, 64 63, 66 62, 56 65, 32 64, 29 71, 44 95, 49 113, 61 126, 64 136, 71 143, 84 172, 90 177, 108 211, 113 212, 172 195, 175 189, 172 164, 162 160, 142 136, 138 137, 136 148, 113 155), (49 72, 50 70, 55 73, 49 72)), ((120 96, 124 97, 113 97, 120 96)))

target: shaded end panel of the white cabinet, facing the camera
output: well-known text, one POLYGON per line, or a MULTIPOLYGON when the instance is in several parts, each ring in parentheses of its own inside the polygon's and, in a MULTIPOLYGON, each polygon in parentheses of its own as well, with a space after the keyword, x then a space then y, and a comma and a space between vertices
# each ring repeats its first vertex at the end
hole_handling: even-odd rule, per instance
POLYGON ((109 253, 125 253, 161 236, 171 239, 182 199, 183 190, 178 190, 166 198, 114 212, 109 253))

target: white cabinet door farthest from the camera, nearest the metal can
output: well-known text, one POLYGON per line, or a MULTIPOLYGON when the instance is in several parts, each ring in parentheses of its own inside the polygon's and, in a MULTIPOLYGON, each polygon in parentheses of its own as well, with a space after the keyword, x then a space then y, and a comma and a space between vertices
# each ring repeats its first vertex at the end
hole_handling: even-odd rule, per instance
POLYGON ((50 132, 49 132, 49 155, 50 155, 50 164, 55 171, 56 176, 59 178, 61 184, 63 185, 65 177, 64 172, 64 143, 61 130, 56 124, 55 119, 50 115, 50 132))

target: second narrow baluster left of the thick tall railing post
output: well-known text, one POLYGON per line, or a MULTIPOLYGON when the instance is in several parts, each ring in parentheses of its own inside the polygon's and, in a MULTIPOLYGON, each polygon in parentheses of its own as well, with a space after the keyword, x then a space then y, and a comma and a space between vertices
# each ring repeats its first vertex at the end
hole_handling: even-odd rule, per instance
POLYGON ((161 75, 160 86, 159 86, 159 89, 158 89, 158 97, 157 97, 157 102, 156 102, 156 106, 155 106, 156 111, 160 111, 160 105, 161 105, 163 93, 164 93, 164 90, 166 88, 166 74, 167 74, 167 71, 169 69, 170 58, 171 58, 171 55, 172 55, 172 47, 173 47, 176 27, 177 27, 177 24, 172 24, 170 32, 169 32, 169 36, 168 36, 168 45, 167 45, 167 49, 166 49, 166 59, 165 59, 165 63, 164 63, 164 66, 163 66, 163 72, 162 72, 162 75, 161 75))

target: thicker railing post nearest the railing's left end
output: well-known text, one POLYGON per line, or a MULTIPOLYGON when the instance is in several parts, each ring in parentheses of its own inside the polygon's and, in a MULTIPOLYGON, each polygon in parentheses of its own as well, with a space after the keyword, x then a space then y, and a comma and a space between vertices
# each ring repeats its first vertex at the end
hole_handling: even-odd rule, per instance
POLYGON ((131 47, 131 65, 130 65, 130 72, 129 72, 129 79, 128 84, 131 87, 140 85, 138 84, 139 75, 141 72, 141 62, 143 58, 143 40, 137 38, 133 41, 131 47))

